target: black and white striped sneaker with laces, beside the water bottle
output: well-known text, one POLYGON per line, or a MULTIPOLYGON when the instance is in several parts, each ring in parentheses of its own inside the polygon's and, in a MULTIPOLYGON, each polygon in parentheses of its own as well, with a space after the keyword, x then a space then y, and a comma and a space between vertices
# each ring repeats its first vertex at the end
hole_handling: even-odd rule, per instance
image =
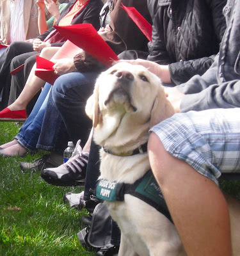
POLYGON ((80 142, 81 140, 77 141, 74 152, 66 163, 61 164, 58 168, 42 170, 42 179, 55 186, 84 185, 89 154, 83 152, 80 142))

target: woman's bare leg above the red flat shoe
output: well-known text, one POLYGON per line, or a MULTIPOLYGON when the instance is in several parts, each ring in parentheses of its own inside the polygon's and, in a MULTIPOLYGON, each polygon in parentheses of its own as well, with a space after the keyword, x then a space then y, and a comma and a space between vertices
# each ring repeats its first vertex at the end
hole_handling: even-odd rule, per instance
MULTIPOLYGON (((60 49, 60 47, 46 47, 42 50, 40 56, 47 60, 50 60, 52 56, 60 49)), ((19 97, 8 108, 10 110, 26 109, 29 101, 33 99, 33 96, 44 86, 45 81, 35 76, 36 63, 31 69, 28 80, 24 86, 24 89, 20 93, 19 97)))

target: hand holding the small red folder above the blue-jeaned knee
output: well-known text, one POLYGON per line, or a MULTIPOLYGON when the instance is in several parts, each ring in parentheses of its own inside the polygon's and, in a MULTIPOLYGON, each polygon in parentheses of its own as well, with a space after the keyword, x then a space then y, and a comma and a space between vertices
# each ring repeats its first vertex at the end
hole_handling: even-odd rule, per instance
POLYGON ((74 59, 61 59, 61 60, 51 60, 54 64, 52 67, 54 69, 54 73, 58 76, 63 74, 67 74, 70 72, 76 72, 77 69, 74 65, 74 59))

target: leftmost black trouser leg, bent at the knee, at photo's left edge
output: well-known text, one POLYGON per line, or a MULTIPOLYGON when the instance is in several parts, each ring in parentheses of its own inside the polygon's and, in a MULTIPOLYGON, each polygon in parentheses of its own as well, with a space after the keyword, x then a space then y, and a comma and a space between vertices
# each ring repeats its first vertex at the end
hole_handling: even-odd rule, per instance
POLYGON ((13 42, 0 56, 0 92, 3 90, 0 110, 8 106, 11 86, 10 63, 15 56, 26 52, 33 52, 33 44, 29 42, 13 42))

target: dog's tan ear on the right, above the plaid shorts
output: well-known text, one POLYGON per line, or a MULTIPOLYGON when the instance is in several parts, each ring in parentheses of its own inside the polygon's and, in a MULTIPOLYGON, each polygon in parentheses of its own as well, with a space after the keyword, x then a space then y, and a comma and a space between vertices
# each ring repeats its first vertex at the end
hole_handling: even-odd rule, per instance
POLYGON ((174 113, 172 104, 166 98, 163 86, 159 86, 157 97, 154 100, 154 106, 151 111, 150 128, 172 116, 174 113))

